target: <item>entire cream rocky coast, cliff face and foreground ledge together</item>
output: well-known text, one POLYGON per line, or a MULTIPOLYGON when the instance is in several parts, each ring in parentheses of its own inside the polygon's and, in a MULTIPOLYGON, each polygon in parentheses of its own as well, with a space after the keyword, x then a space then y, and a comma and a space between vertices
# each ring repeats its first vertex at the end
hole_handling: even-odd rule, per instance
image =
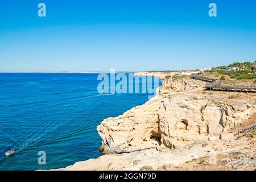
MULTIPOLYGON (((97 127, 101 151, 110 155, 60 170, 138 170, 143 166, 159 169, 166 164, 185 164, 184 169, 194 169, 194 162, 185 162, 216 152, 225 156, 240 150, 255 156, 255 138, 238 139, 233 128, 240 127, 243 121, 255 121, 256 94, 203 91, 203 81, 152 72, 136 75, 141 74, 164 77, 163 84, 150 101, 119 117, 104 119, 97 127)), ((254 165, 247 162, 249 159, 230 160, 220 163, 228 169, 246 168, 249 163, 251 169, 254 165)), ((220 166, 216 161, 214 165, 220 166)))

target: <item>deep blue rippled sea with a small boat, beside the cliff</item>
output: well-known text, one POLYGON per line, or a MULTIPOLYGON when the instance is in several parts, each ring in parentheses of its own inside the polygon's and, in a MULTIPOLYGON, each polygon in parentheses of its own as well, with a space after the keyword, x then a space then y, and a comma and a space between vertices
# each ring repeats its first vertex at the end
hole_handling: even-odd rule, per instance
POLYGON ((101 155, 96 127, 148 100, 99 94, 96 73, 0 73, 0 170, 52 169, 101 155), (5 151, 15 149, 6 157, 5 151), (38 152, 46 152, 46 165, 38 152))

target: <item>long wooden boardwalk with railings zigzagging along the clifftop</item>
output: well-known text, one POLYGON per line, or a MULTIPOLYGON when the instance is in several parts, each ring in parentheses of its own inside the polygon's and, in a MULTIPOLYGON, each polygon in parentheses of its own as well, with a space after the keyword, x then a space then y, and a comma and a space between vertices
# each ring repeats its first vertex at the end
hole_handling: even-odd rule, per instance
POLYGON ((209 84, 205 85, 205 89, 207 90, 214 90, 214 91, 228 91, 228 92, 254 92, 256 93, 256 86, 241 86, 241 85, 221 85, 221 81, 217 82, 217 79, 208 78, 208 77, 201 77, 200 73, 193 74, 191 76, 192 79, 201 80, 209 82, 209 84))

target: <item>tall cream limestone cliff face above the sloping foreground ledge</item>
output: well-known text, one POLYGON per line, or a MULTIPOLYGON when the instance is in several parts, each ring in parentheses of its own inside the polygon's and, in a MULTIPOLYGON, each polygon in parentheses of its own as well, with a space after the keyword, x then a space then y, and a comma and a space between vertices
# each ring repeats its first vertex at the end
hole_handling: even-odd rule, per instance
POLYGON ((255 94, 202 91, 204 85, 188 77, 165 77, 158 95, 146 104, 102 121, 97 127, 102 152, 177 149, 218 139, 255 112, 255 94), (236 99, 229 98, 234 94, 236 99))

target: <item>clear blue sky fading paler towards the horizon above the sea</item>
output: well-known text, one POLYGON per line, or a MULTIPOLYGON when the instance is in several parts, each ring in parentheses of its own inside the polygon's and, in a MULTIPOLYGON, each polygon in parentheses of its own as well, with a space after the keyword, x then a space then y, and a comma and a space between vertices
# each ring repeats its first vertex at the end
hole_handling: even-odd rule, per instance
POLYGON ((0 22, 0 72, 196 69, 256 59, 255 0, 5 0, 0 22))

